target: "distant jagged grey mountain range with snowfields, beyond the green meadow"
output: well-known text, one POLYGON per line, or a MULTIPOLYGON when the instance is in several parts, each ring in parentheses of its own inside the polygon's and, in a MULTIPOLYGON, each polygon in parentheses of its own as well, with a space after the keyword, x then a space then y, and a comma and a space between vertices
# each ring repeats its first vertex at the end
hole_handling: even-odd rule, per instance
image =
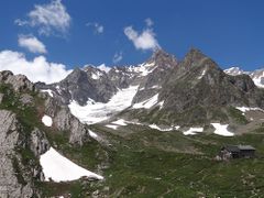
POLYGON ((230 121, 232 107, 264 108, 262 78, 261 70, 222 70, 199 50, 190 50, 183 61, 158 50, 138 66, 108 72, 86 66, 57 84, 36 87, 69 106, 85 123, 119 117, 164 125, 205 125, 230 121))

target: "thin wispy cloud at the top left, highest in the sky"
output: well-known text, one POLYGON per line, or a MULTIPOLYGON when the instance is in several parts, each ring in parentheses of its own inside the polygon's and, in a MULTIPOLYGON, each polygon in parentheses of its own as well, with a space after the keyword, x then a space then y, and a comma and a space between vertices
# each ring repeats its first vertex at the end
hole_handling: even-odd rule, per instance
POLYGON ((67 33, 72 18, 62 0, 52 0, 47 4, 36 4, 34 10, 28 13, 28 20, 16 19, 18 25, 30 25, 38 29, 40 34, 67 33))

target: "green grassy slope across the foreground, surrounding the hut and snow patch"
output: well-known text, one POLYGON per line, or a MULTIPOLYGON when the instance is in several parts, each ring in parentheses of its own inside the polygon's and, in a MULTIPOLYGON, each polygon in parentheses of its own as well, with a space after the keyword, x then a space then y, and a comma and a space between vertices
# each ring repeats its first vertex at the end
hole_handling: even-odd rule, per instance
MULTIPOLYGON (((6 92, 8 88, 1 89, 6 92)), ((105 182, 37 183, 46 197, 67 194, 72 194, 73 197, 89 197, 96 189, 99 189, 101 196, 107 197, 261 197, 264 195, 263 128, 252 134, 221 138, 212 134, 184 136, 176 131, 160 132, 134 125, 113 133, 109 129, 94 125, 94 131, 107 139, 111 146, 92 141, 79 147, 67 143, 67 132, 56 132, 45 128, 36 117, 36 109, 26 111, 18 109, 15 100, 15 96, 10 94, 1 105, 1 109, 16 112, 20 121, 28 129, 36 125, 45 131, 52 144, 66 156, 95 172, 97 165, 109 164, 103 169, 105 182), (133 133, 118 135, 127 131, 133 133), (216 162, 213 157, 223 144, 251 144, 257 148, 257 157, 228 163, 216 162)), ((28 154, 25 157, 28 158, 28 154)))

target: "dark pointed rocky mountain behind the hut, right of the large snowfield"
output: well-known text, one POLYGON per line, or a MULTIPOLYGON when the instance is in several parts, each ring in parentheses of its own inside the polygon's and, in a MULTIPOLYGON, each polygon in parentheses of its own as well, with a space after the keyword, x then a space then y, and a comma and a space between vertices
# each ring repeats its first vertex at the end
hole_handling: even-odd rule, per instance
POLYGON ((229 76, 197 50, 190 51, 165 79, 156 101, 163 106, 144 110, 151 122, 228 121, 229 107, 264 107, 263 91, 248 75, 229 76))

